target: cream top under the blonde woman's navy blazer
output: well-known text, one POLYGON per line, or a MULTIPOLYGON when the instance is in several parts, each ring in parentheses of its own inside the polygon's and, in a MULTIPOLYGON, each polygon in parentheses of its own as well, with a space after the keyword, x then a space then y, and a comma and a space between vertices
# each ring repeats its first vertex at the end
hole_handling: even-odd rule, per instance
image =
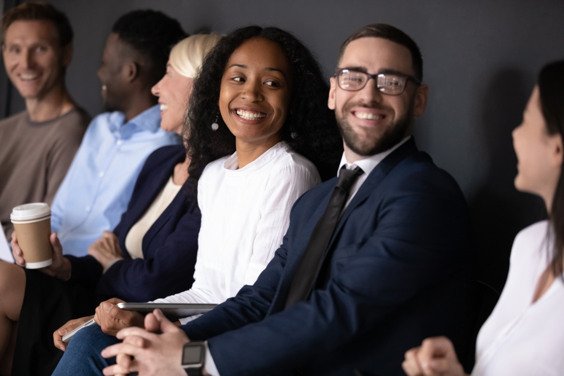
POLYGON ((182 185, 176 185, 173 177, 170 176, 169 181, 162 187, 160 193, 153 200, 144 215, 127 231, 125 248, 132 259, 143 259, 143 237, 158 217, 161 216, 162 212, 173 202, 180 188, 182 188, 182 185))

